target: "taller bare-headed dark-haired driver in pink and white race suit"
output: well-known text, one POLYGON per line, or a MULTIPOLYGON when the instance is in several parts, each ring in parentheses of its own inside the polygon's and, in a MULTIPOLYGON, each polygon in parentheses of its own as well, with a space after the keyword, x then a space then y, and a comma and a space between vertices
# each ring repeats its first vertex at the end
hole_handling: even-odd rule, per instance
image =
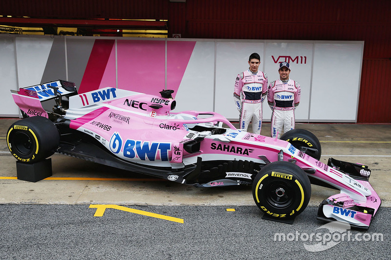
POLYGON ((235 81, 234 99, 240 112, 239 128, 247 131, 252 120, 253 133, 261 134, 262 102, 267 92, 267 76, 258 70, 261 57, 253 53, 248 59, 250 67, 239 73, 235 81))

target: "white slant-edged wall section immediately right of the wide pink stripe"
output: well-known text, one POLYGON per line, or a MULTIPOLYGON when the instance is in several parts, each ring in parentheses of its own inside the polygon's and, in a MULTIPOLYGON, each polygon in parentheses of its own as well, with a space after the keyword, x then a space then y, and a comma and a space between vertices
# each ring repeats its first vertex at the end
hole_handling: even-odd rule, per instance
POLYGON ((175 96, 174 112, 213 111, 215 42, 197 41, 175 96))

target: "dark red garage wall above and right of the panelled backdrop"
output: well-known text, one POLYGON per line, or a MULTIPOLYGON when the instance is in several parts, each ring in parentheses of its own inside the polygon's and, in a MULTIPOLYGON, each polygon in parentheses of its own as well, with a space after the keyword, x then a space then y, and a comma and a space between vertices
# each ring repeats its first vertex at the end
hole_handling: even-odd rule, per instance
POLYGON ((200 39, 365 41, 357 121, 391 122, 389 0, 115 2, 3 0, 0 10, 2 15, 53 20, 164 19, 168 37, 181 34, 182 38, 200 39))

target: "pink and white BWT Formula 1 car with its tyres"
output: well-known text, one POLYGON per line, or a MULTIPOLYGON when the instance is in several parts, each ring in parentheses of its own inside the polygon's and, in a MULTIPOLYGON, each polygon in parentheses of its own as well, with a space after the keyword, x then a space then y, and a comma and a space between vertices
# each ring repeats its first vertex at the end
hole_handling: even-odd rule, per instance
POLYGON ((172 93, 78 94, 63 80, 12 91, 24 119, 10 126, 8 148, 26 164, 57 152, 195 186, 252 184, 264 217, 283 222, 305 209, 310 183, 332 187, 340 193, 321 203, 318 219, 368 229, 381 200, 367 166, 324 164, 319 140, 304 129, 279 140, 237 130, 217 113, 174 113, 172 93))

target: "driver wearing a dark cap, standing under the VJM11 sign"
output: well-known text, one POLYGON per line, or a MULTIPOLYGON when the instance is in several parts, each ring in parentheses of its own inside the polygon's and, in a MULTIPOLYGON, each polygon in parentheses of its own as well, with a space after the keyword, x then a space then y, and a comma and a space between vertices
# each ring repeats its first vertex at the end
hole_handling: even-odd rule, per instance
POLYGON ((300 84, 289 79, 289 63, 281 62, 278 70, 280 80, 270 82, 267 90, 267 102, 273 110, 271 137, 280 138, 282 129, 286 133, 295 128, 295 108, 300 102, 300 84))

